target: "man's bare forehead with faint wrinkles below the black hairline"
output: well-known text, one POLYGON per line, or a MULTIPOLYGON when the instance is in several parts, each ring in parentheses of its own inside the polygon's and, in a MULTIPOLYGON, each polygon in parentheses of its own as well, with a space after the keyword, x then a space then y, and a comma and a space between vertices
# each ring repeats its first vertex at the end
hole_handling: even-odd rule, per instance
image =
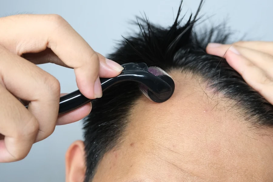
POLYGON ((104 155, 93 181, 272 180, 270 139, 249 130, 239 111, 228 111, 232 101, 212 95, 196 76, 171 74, 173 96, 135 103, 119 145, 104 155))

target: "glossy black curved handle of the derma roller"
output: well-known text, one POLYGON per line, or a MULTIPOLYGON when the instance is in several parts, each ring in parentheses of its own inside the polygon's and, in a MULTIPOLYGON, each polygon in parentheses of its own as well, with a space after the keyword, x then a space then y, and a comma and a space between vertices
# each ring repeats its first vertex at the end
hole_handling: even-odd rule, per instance
MULTIPOLYGON (((114 78, 101 78, 102 91, 119 82, 135 81, 146 86, 159 99, 166 99, 173 93, 173 88, 166 82, 167 80, 164 81, 160 77, 147 72, 145 63, 135 64, 135 67, 133 67, 133 64, 135 63, 122 65, 124 70, 114 78)), ((83 96, 79 90, 62 96, 60 97, 59 115, 78 109, 91 101, 92 99, 83 96)), ((28 108, 28 106, 25 107, 28 108)))

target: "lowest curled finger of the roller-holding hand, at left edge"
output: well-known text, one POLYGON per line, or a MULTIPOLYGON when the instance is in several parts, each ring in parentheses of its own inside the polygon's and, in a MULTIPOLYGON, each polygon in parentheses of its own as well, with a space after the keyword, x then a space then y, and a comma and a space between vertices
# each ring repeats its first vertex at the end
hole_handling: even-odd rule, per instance
POLYGON ((27 156, 35 141, 38 121, 2 84, 0 107, 0 162, 21 160, 27 156))

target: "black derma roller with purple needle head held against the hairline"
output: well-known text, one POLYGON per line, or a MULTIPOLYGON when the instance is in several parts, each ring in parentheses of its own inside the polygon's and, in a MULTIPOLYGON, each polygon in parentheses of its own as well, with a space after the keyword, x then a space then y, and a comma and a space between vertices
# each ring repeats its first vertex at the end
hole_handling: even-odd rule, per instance
MULTIPOLYGON (((145 63, 127 63, 122 72, 113 78, 100 78, 102 91, 123 81, 138 82, 140 91, 150 100, 162 103, 174 93, 174 80, 162 69, 156 66, 148 67, 145 63)), ((75 110, 93 99, 88 99, 76 90, 60 97, 59 115, 75 110)), ((28 108, 28 106, 25 106, 28 108)))

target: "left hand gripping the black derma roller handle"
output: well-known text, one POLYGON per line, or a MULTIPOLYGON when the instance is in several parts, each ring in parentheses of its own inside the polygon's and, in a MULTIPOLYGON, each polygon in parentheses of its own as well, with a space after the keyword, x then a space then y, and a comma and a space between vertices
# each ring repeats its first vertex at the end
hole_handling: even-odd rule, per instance
POLYGON ((84 96, 102 96, 100 77, 123 69, 96 53, 59 15, 15 15, 0 18, 0 162, 23 159, 32 144, 48 137, 56 124, 82 119, 87 104, 58 117, 60 85, 35 64, 74 68, 84 96), (29 101, 28 109, 19 99, 29 101))

